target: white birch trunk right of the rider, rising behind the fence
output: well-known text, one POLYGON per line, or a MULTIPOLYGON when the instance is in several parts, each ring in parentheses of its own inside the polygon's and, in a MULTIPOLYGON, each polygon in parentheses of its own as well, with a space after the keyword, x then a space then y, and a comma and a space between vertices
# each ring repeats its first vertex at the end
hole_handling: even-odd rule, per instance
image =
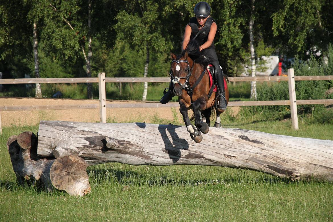
MULTIPOLYGON (((254 52, 254 38, 253 38, 253 24, 254 24, 254 1, 251 0, 251 16, 249 22, 249 34, 250 34, 250 51, 251 51, 251 77, 256 75, 255 65, 255 52, 254 52)), ((251 98, 257 100, 257 82, 251 82, 251 98)))

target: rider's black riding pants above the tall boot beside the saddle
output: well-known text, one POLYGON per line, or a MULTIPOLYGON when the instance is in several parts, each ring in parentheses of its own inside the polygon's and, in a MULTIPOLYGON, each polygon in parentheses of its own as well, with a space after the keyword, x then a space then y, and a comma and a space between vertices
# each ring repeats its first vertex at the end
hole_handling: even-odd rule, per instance
POLYGON ((216 81, 218 89, 220 93, 224 93, 224 80, 223 80, 223 71, 220 68, 220 64, 218 63, 218 58, 214 48, 204 49, 200 52, 204 55, 207 60, 215 67, 216 81))

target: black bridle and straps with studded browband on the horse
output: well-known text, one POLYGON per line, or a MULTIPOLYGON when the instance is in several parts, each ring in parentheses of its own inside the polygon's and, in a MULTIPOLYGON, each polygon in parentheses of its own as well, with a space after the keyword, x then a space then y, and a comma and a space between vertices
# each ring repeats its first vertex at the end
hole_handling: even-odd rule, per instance
POLYGON ((201 81, 203 75, 205 74, 206 72, 206 68, 203 69, 199 79, 197 79, 197 81, 194 83, 194 85, 191 87, 190 86, 190 83, 189 83, 189 78, 192 76, 192 70, 193 70, 193 67, 194 67, 194 62, 193 62, 193 66, 191 69, 189 69, 189 63, 187 60, 172 60, 171 61, 171 67, 172 67, 172 63, 187 63, 187 74, 186 74, 186 77, 177 77, 177 76, 173 76, 173 73, 172 73, 172 69, 170 68, 170 76, 171 76, 171 80, 172 80, 172 83, 173 84, 176 84, 178 83, 179 86, 181 87, 181 89, 185 90, 187 92, 187 94, 191 97, 191 101, 192 101, 192 95, 193 95, 193 91, 194 91, 194 88, 199 84, 199 82, 201 81), (179 82, 179 79, 186 79, 185 80, 185 83, 184 84, 181 84, 179 82))

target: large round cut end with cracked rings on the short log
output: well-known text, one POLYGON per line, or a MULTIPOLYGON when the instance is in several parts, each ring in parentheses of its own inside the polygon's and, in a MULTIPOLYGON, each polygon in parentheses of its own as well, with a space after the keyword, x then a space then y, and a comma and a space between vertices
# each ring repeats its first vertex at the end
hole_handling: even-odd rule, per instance
POLYGON ((87 163, 77 155, 62 156, 54 160, 50 169, 52 185, 74 196, 90 193, 87 163))

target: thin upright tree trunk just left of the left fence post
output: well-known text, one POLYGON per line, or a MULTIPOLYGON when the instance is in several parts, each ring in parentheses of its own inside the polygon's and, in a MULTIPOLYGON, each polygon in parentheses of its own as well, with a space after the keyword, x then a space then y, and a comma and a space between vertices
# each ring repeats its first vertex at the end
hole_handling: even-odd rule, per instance
MULTIPOLYGON (((91 57, 93 55, 91 47, 91 0, 88 0, 88 58, 87 58, 87 77, 91 77, 91 57)), ((87 94, 89 99, 93 99, 93 84, 87 83, 87 94)))

